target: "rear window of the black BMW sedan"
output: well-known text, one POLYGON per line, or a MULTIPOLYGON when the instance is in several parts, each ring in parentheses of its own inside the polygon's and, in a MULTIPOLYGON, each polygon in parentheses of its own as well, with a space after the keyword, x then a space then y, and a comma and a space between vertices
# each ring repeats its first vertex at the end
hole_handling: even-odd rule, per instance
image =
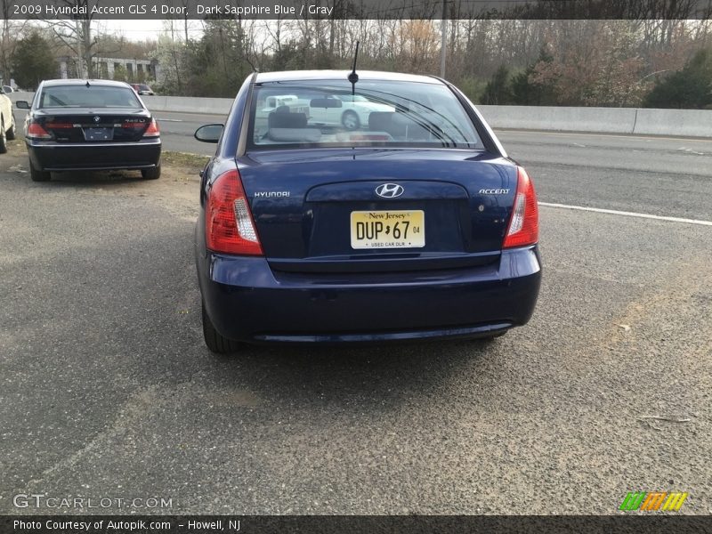
POLYGON ((40 108, 141 108, 134 91, 128 87, 106 85, 55 85, 45 87, 40 108))

